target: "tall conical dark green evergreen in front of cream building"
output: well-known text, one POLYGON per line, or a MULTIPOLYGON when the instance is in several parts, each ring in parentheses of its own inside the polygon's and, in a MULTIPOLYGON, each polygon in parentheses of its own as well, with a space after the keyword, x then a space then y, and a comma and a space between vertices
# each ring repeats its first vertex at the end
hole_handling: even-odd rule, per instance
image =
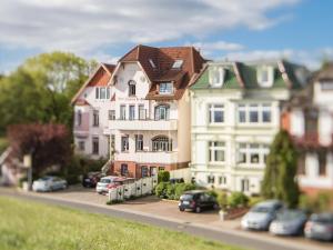
POLYGON ((269 199, 281 199, 292 208, 297 206, 300 189, 296 170, 297 152, 289 133, 281 130, 268 156, 262 194, 269 199))

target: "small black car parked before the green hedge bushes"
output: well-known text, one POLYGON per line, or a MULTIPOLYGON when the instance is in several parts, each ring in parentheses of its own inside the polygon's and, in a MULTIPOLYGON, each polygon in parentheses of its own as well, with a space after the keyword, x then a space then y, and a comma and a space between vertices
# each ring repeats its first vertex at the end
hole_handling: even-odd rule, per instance
POLYGON ((180 197, 179 210, 185 209, 194 212, 201 212, 203 209, 216 209, 219 207, 216 199, 203 190, 186 191, 180 197))

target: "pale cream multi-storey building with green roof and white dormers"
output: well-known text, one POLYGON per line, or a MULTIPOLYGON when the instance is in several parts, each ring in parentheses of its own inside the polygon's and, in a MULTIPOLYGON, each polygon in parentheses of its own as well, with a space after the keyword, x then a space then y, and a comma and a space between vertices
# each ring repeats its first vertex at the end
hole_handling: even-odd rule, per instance
POLYGON ((205 187, 259 193, 281 103, 306 69, 286 61, 210 62, 191 86, 192 174, 205 187))

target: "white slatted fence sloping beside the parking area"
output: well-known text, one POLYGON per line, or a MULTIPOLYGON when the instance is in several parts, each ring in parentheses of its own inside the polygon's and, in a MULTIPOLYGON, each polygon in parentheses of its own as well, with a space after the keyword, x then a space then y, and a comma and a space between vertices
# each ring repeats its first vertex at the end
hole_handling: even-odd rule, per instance
POLYGON ((158 177, 148 177, 134 183, 123 184, 109 190, 109 201, 123 201, 127 199, 151 194, 158 184, 158 177))

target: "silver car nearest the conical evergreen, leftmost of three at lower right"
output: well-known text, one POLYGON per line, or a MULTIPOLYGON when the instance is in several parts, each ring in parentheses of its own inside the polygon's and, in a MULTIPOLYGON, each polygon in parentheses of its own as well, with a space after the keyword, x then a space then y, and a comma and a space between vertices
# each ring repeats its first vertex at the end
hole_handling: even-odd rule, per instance
POLYGON ((281 208, 283 208, 283 203, 279 200, 262 201, 242 218, 241 226, 243 229, 266 231, 281 208))

